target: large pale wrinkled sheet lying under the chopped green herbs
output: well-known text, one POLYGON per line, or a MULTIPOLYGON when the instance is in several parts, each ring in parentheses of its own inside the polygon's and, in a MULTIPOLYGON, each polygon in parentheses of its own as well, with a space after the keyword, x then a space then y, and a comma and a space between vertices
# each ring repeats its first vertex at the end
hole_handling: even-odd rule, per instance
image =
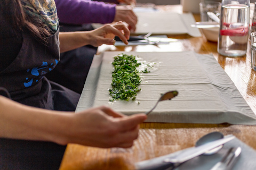
MULTIPOLYGON (((161 101, 148 115, 147 122, 256 124, 256 116, 235 84, 212 55, 195 52, 125 52, 156 63, 143 73, 137 101, 109 102, 111 62, 122 52, 95 56, 77 110, 107 105, 126 115, 145 113, 160 94, 178 90, 172 100, 161 101)), ((124 53, 124 52, 123 52, 124 53)))

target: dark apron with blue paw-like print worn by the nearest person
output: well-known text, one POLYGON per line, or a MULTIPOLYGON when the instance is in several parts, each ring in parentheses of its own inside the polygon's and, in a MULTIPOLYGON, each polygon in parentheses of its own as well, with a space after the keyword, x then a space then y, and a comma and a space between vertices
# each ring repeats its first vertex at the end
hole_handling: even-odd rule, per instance
POLYGON ((45 78, 60 60, 59 31, 45 42, 22 33, 18 56, 2 72, 0 87, 10 92, 12 100, 39 108, 75 111, 79 94, 45 78))

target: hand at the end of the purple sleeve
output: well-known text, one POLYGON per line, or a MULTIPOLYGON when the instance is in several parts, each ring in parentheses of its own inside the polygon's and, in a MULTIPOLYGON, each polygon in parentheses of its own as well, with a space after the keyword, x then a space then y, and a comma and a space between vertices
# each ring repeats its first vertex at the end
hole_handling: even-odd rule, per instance
POLYGON ((131 6, 116 6, 114 21, 124 21, 129 25, 130 30, 135 31, 138 19, 131 6))

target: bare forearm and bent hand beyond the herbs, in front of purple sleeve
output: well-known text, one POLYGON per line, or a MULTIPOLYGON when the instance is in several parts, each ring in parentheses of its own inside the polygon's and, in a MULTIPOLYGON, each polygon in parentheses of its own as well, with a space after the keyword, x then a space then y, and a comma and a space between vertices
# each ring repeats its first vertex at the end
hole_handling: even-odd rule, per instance
POLYGON ((84 32, 60 32, 60 53, 85 45, 98 47, 102 44, 114 45, 114 37, 118 36, 125 44, 130 37, 130 31, 122 22, 114 25, 106 24, 101 28, 84 32))

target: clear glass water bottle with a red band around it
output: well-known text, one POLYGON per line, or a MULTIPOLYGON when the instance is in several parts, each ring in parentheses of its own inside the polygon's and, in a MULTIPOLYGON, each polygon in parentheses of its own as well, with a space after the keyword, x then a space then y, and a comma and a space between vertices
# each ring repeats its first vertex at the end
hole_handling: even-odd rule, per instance
POLYGON ((222 0, 218 53, 229 57, 246 54, 250 22, 250 0, 222 0))

